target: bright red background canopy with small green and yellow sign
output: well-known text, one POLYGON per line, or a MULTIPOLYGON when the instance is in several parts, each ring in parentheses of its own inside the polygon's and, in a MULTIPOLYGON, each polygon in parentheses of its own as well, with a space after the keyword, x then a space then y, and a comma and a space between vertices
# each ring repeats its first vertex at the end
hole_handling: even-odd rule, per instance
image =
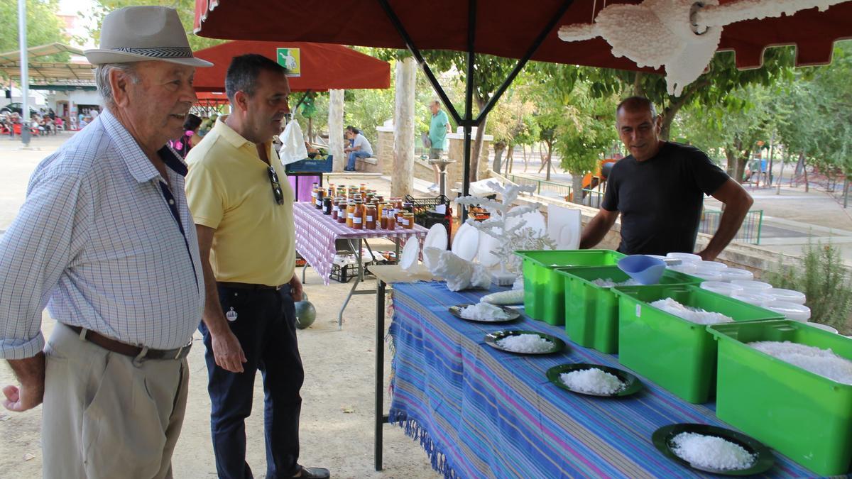
MULTIPOLYGON (((290 78, 293 91, 326 89, 374 89, 390 87, 390 65, 343 45, 306 42, 227 42, 195 52, 213 62, 195 71, 196 91, 225 91, 225 72, 236 55, 256 53, 273 61, 276 49, 300 49, 301 76, 290 78)), ((200 97, 199 97, 200 98, 200 97)))

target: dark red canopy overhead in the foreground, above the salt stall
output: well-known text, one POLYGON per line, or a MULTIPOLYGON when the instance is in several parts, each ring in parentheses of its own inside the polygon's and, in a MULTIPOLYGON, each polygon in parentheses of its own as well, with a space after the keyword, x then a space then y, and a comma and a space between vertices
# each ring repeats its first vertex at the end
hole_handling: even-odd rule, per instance
MULTIPOLYGON (((720 3, 735 1, 720 0, 720 3)), ((468 49, 468 2, 388 0, 388 3, 417 49, 468 49)), ((480 1, 475 15, 475 51, 521 58, 563 3, 564 0, 480 1)), ((535 51, 533 60, 636 69, 632 61, 614 58, 601 38, 566 43, 556 36, 558 26, 589 23, 593 8, 599 11, 612 3, 641 1, 575 0, 535 51)), ((377 0, 196 0, 195 32, 210 38, 406 48, 377 0)), ((852 2, 835 5, 825 12, 808 9, 792 16, 725 26, 719 49, 735 50, 737 66, 746 68, 762 64, 767 46, 796 44, 797 65, 815 65, 831 61, 832 43, 841 38, 852 38, 852 2)), ((637 32, 636 41, 642 41, 641 32, 637 32)))

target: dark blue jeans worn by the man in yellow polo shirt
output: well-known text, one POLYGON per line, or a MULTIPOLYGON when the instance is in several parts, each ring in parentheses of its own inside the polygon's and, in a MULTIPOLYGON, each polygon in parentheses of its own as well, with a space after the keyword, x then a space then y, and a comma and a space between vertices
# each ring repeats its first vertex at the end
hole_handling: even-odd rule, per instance
POLYGON ((245 462, 245 418, 251 413, 256 371, 263 377, 263 414, 269 479, 291 477, 300 466, 299 413, 302 409, 304 371, 296 342, 296 310, 290 287, 247 290, 218 286, 222 311, 237 314, 228 321, 239 339, 245 358, 244 372, 216 366, 210 332, 204 326, 207 372, 210 378, 210 431, 216 472, 220 478, 253 477, 245 462))

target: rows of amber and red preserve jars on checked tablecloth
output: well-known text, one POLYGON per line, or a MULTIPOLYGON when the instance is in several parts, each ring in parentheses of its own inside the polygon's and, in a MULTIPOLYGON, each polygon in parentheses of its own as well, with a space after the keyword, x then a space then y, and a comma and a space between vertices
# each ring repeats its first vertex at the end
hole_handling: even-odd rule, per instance
POLYGON ((323 214, 331 219, 345 223, 354 229, 414 228, 414 209, 411 203, 402 203, 401 199, 393 203, 380 203, 373 199, 366 203, 362 199, 323 199, 323 214))

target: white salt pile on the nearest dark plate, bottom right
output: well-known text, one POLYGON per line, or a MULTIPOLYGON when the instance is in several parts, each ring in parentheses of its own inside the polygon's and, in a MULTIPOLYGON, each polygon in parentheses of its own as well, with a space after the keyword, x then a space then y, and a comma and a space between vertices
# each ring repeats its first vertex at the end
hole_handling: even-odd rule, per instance
POLYGON ((672 437, 671 444, 671 451, 677 457, 707 469, 747 469, 757 459, 739 444, 694 432, 682 432, 672 437))

